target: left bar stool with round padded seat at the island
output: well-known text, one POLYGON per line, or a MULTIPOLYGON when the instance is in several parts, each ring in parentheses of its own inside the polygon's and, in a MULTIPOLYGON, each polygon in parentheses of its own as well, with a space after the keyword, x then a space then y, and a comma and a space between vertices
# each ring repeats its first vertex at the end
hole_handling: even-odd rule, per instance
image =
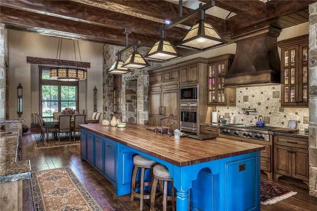
MULTIPOLYGON (((133 157, 134 169, 132 174, 132 184, 131 184, 131 200, 133 201, 134 197, 140 199, 140 211, 143 210, 143 199, 151 199, 151 192, 144 193, 146 187, 152 186, 153 183, 153 167, 158 164, 155 160, 146 158, 141 155, 136 155, 133 157), (137 183, 137 173, 138 169, 141 168, 141 181, 137 183), (146 169, 150 170, 150 182, 145 182, 145 171, 146 169), (137 184, 136 184, 137 183, 137 184), (140 188, 140 191, 136 189, 140 188)), ((149 188, 148 188, 149 189, 149 188)), ((158 193, 159 194, 159 193, 158 193)))

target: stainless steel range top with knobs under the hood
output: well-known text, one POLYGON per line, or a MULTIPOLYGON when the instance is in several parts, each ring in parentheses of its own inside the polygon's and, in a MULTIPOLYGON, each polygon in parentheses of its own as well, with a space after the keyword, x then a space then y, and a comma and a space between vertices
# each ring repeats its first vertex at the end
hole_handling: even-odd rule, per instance
POLYGON ((276 127, 257 127, 249 124, 226 124, 219 126, 220 134, 249 138, 253 140, 269 141, 268 131, 276 127))

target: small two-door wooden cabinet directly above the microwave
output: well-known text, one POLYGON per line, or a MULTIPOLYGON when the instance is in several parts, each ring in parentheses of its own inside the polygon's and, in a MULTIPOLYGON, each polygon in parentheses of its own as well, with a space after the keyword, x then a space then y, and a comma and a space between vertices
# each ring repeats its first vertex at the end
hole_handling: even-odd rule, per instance
POLYGON ((180 84, 197 84, 199 80, 199 66, 198 64, 190 64, 180 67, 180 84))

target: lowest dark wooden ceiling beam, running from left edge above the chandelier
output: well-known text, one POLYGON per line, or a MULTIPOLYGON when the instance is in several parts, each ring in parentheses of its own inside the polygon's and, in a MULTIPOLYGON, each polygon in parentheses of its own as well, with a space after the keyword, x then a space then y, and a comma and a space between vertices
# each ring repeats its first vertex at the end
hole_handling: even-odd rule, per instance
MULTIPOLYGON (((112 45, 125 46, 125 35, 122 34, 122 28, 114 29, 102 27, 99 25, 87 24, 83 22, 76 22, 46 15, 37 14, 33 12, 0 7, 1 23, 8 27, 18 28, 24 27, 34 33, 41 33, 46 35, 64 35, 70 36, 80 40, 102 40, 103 43, 112 45), (109 33, 111 32, 111 33, 109 33)), ((140 40, 142 46, 152 46, 157 42, 158 38, 154 36, 142 35, 138 33, 131 33, 128 36, 128 43, 133 44, 133 41, 140 40)))

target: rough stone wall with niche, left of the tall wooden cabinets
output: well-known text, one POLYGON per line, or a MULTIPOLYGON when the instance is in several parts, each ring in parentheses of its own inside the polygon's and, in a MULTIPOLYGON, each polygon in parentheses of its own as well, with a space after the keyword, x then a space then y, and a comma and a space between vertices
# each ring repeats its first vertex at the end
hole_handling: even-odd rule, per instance
MULTIPOLYGON (((113 75, 107 74, 109 68, 117 59, 118 51, 124 47, 111 45, 104 46, 104 119, 110 120, 113 116, 113 75)), ((143 56, 149 48, 140 47, 138 52, 143 56)), ((124 61, 133 49, 121 54, 124 61)), ((161 63, 150 62, 150 67, 143 69, 131 69, 132 71, 122 75, 122 121, 148 124, 149 122, 149 74, 147 70, 161 67, 161 63)))

